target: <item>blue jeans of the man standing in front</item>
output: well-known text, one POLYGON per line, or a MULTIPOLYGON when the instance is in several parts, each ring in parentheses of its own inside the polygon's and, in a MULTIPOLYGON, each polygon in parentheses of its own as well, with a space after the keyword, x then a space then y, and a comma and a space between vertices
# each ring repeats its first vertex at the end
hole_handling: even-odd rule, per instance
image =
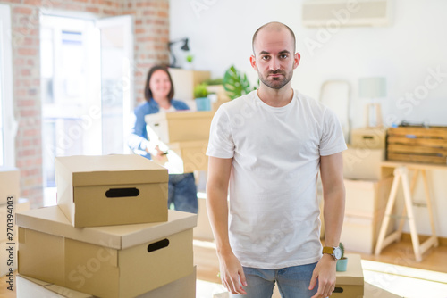
POLYGON ((293 266, 283 269, 257 269, 244 267, 247 285, 246 295, 232 294, 236 298, 270 298, 277 283, 283 298, 310 298, 318 291, 318 283, 312 291, 308 290, 316 263, 293 266))

